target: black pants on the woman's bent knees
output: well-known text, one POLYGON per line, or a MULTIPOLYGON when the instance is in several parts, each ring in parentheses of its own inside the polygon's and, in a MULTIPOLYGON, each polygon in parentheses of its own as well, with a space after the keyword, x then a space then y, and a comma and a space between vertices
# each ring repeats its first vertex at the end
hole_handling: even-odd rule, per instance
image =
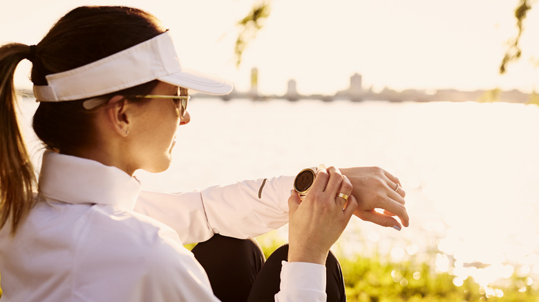
MULTIPOLYGON (((288 245, 265 256, 255 239, 236 239, 215 234, 192 250, 206 270, 214 294, 225 302, 274 301, 281 283, 281 261, 287 260, 288 245)), ((328 301, 346 301, 343 273, 332 252, 325 262, 328 301)))

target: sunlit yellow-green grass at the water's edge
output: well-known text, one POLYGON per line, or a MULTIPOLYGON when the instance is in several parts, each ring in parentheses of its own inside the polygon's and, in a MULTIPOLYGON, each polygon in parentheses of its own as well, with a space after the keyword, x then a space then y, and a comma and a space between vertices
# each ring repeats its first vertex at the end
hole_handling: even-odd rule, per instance
MULTIPOLYGON (((281 245, 271 236, 257 238, 267 256, 281 245)), ((433 255, 435 257, 435 254, 433 255)), ((539 290, 527 276, 504 280, 503 286, 482 288, 473 278, 455 281, 455 276, 437 273, 432 264, 392 262, 379 254, 363 258, 342 258, 341 268, 349 302, 539 302, 539 290)))

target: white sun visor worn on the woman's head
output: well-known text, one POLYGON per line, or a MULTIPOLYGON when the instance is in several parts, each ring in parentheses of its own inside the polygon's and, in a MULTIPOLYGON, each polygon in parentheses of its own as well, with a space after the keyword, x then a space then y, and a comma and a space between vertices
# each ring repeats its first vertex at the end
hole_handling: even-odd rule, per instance
POLYGON ((34 85, 37 101, 73 101, 124 90, 153 80, 191 92, 227 94, 232 85, 219 77, 182 68, 167 31, 85 66, 49 74, 48 85, 34 85))

